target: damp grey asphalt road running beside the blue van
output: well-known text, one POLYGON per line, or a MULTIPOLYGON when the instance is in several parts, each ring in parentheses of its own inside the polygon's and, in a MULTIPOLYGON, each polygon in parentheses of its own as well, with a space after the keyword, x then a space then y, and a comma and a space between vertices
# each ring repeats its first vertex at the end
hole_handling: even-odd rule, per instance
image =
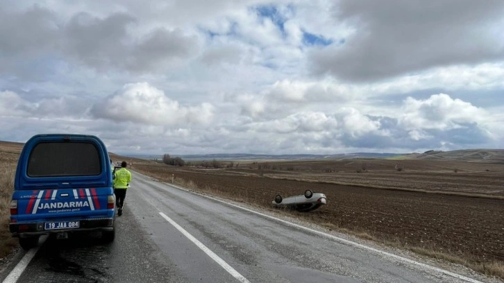
POLYGON ((47 239, 17 282, 477 282, 137 173, 115 242, 99 236, 47 239))

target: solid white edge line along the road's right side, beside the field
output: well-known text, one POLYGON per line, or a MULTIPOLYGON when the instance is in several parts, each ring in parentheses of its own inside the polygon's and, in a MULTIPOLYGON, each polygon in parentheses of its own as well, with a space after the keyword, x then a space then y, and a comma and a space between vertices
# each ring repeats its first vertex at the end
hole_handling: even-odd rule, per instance
MULTIPOLYGON (((149 176, 146 176, 147 178, 149 178, 149 176)), ((176 185, 172 185, 172 184, 168 184, 168 183, 165 183, 166 185, 169 185, 171 187, 176 187, 177 189, 181 189, 183 191, 188 191, 192 194, 197 194, 199 196, 203 196, 205 198, 210 198, 211 200, 216 200, 218 201, 219 203, 224 203, 226 205, 231 205, 233 207, 237 207, 239 209, 243 209, 245 210, 246 212, 251 212, 253 214, 258 214, 260 216, 263 216, 263 217, 266 217, 266 218, 270 218, 270 219, 273 219, 274 221, 278 221, 278 222, 281 222, 281 223, 285 223, 287 225, 290 225, 290 226, 293 226, 293 227, 296 227, 296 228, 299 228, 301 230, 305 230, 305 231, 308 231, 308 232, 312 232, 314 234, 319 234, 323 237, 326 237, 326 238, 329 238, 329 239, 333 239, 334 241, 339 241, 340 243, 345 243, 347 244, 348 246, 354 246, 356 248, 361 248, 362 250, 371 250, 372 252, 376 252, 380 255, 383 255, 385 257, 391 257, 393 259, 397 259, 399 261, 404 261, 404 262, 408 262, 409 264, 412 264, 412 265, 416 265, 416 266, 420 266, 421 268, 425 268, 425 269, 429 269, 431 271, 436 271, 436 272, 439 272, 439 273, 443 273, 444 275, 448 275, 448 276, 451 276, 451 277, 455 277, 457 279, 460 279, 460 280, 464 280, 465 282, 471 282, 471 283, 483 283, 481 281, 478 281, 478 280, 474 280, 473 278, 470 278, 470 277, 467 277, 467 276, 464 276, 464 275, 460 275, 460 274, 457 274, 457 273, 453 273, 451 271, 445 271, 444 269, 442 268, 438 268, 438 267, 435 267, 435 266, 430 266, 428 264, 423 264, 419 261, 414 261, 412 259, 407 259, 405 257, 401 257, 399 255, 394 255, 390 252, 385 252, 383 250, 378 250, 376 248, 371 248, 369 246, 365 246, 365 245, 362 245, 361 243, 355 243, 354 241, 349 241, 347 239, 343 239, 343 238, 340 238, 340 237, 336 237, 336 236, 333 236, 331 234, 327 234, 327 233, 324 233, 324 232, 321 232, 321 231, 317 231, 317 230, 313 230, 311 228, 307 228, 307 227, 304 227, 302 225, 299 225, 299 224, 296 224, 296 223, 291 223, 289 221, 285 221, 285 220, 282 220, 280 218, 276 218, 274 216, 269 216, 267 214, 262 214, 260 212, 255 212, 251 209, 248 209, 248 208, 245 208, 245 207, 240 207, 239 205, 234 205, 233 203, 226 203, 224 200, 219 200, 217 198, 212 198, 211 196, 205 196, 203 194, 198 194, 194 191, 190 191, 188 189, 185 189, 183 187, 178 187, 176 185)))

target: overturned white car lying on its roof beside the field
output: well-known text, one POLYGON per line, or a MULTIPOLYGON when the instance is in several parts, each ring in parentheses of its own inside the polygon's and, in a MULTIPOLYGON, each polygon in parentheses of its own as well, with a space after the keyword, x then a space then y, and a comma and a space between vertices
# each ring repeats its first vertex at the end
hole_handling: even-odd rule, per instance
POLYGON ((288 207, 296 209, 299 212, 309 212, 326 204, 326 195, 313 193, 307 189, 304 195, 289 196, 283 198, 280 195, 275 196, 275 200, 271 202, 276 207, 288 207))

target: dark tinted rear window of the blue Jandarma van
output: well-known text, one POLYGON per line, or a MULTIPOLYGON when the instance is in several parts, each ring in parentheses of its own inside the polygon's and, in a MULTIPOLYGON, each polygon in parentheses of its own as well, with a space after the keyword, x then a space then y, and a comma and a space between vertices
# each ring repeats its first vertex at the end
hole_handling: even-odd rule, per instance
POLYGON ((99 175, 99 151, 86 142, 43 142, 33 148, 26 173, 30 177, 99 175))

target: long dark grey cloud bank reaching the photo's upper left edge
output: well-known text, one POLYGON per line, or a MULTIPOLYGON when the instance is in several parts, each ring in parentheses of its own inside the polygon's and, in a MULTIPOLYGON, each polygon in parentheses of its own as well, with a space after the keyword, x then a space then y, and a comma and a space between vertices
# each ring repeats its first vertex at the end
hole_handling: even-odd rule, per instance
MULTIPOLYGON (((98 71, 149 73, 177 60, 190 58, 199 49, 196 35, 180 28, 135 28, 139 19, 124 12, 96 17, 76 12, 69 19, 47 8, 34 6, 26 11, 0 12, 0 51, 6 55, 3 67, 19 69, 15 60, 34 60, 51 55, 84 64, 98 71), (12 30, 22 31, 12 33, 12 30), (12 60, 14 59, 14 60, 12 60)), ((28 61, 29 62, 29 61, 28 61)), ((49 63, 49 62, 48 62, 49 63)), ((25 63, 26 64, 26 63, 25 63)), ((0 69, 8 71, 8 69, 0 69)))

